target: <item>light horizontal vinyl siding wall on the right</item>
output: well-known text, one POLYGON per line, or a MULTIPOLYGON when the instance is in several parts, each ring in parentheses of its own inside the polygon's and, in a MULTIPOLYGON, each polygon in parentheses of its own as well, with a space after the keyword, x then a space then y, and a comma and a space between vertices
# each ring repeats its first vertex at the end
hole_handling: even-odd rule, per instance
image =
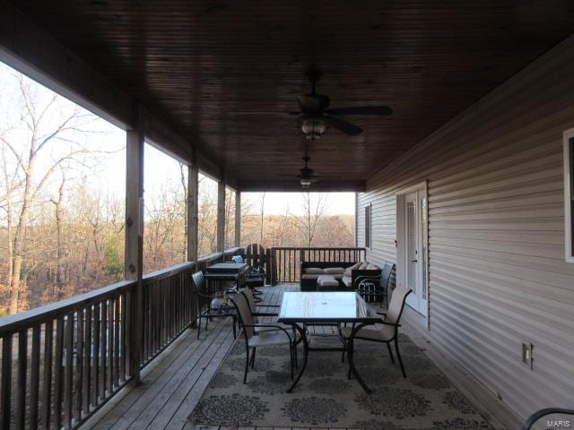
POLYGON ((573 126, 570 38, 371 176, 357 199, 358 245, 372 203, 368 260, 396 262, 396 192, 428 179, 431 339, 523 418, 574 399, 562 182, 573 126), (534 370, 522 342, 534 344, 534 370))

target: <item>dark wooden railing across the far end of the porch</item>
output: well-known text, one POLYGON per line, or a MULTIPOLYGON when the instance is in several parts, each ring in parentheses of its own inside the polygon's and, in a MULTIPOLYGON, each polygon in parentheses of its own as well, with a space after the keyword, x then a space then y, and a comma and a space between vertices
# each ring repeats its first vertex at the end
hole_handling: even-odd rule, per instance
POLYGON ((299 282, 301 262, 360 262, 365 253, 365 248, 274 247, 267 252, 267 271, 273 285, 299 282))

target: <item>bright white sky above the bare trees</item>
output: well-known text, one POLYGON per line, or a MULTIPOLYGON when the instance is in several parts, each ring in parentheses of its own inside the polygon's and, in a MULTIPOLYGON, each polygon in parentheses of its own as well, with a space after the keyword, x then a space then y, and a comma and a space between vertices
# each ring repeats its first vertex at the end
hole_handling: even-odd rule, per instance
MULTIPOLYGON (((18 72, 6 64, 0 63, 0 110, 7 112, 0 118, 0 130, 5 130, 6 125, 16 124, 19 116, 19 106, 16 106, 18 97, 18 72), (3 128, 4 127, 4 128, 3 128)), ((25 79, 30 89, 37 97, 39 104, 48 104, 54 93, 51 90, 25 79)), ((59 124, 63 116, 69 116, 71 112, 79 109, 82 115, 88 112, 82 107, 78 107, 72 101, 60 99, 50 112, 48 117, 48 128, 59 124)), ((98 187, 106 193, 116 195, 123 199, 126 193, 126 132, 109 124, 99 117, 91 117, 89 124, 84 130, 89 133, 70 132, 65 137, 70 142, 77 142, 85 148, 98 151, 97 160, 87 160, 83 166, 76 166, 74 180, 82 180, 91 186, 98 187)), ((18 142, 20 136, 25 136, 25 132, 18 127, 10 130, 13 141, 18 142)), ((54 159, 61 157, 66 150, 69 150, 68 142, 53 142, 50 147, 42 152, 40 158, 41 167, 48 168, 54 159), (66 146, 67 145, 67 146, 66 146)), ((165 185, 180 183, 180 170, 178 162, 170 156, 155 149, 151 145, 145 145, 144 149, 144 190, 146 197, 154 194, 165 187, 165 185)), ((48 185, 47 192, 53 192, 57 186, 57 177, 54 183, 48 185)), ((1 185, 1 184, 0 184, 1 185)), ((208 186, 213 193, 217 192, 214 181, 207 179, 204 186, 208 186)), ((259 211, 261 193, 243 193, 242 201, 245 207, 252 207, 259 211)), ((301 193, 265 193, 265 214, 300 214, 301 213, 301 193)), ((329 193, 326 197, 326 214, 354 214, 354 193, 329 193)))

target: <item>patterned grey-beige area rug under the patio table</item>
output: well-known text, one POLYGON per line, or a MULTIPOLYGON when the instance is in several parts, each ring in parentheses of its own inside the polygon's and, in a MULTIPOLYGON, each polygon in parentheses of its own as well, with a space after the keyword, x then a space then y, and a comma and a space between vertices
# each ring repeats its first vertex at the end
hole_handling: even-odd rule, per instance
MULTIPOLYGON (((339 340, 313 336, 311 342, 334 346, 339 340)), ((391 363, 385 345, 355 342, 355 366, 371 394, 347 379, 348 364, 346 359, 341 363, 341 353, 317 351, 309 352, 305 374, 287 393, 287 346, 257 349, 255 369, 244 384, 245 344, 240 339, 188 419, 202 426, 491 428, 413 341, 402 335, 399 348, 406 379, 391 363)))

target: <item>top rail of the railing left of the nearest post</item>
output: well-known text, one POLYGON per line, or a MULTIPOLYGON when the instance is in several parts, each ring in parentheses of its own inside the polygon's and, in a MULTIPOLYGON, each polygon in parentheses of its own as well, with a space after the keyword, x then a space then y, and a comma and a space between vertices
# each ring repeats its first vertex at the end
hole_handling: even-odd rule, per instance
POLYGON ((30 311, 22 312, 21 314, 6 316, 0 319, 0 336, 4 336, 4 334, 8 332, 28 328, 34 324, 47 321, 50 318, 56 318, 57 315, 68 314, 78 307, 100 302, 107 297, 117 296, 118 293, 130 288, 134 284, 135 280, 121 280, 108 287, 94 289, 88 293, 66 298, 57 303, 39 306, 30 309, 30 311))

